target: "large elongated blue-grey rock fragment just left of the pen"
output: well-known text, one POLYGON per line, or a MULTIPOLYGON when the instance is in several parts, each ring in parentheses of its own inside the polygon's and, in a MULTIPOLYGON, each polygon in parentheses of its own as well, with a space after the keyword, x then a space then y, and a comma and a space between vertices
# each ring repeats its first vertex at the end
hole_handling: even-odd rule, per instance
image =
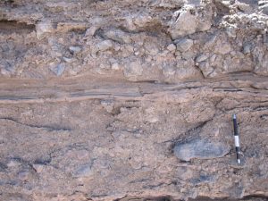
POLYGON ((205 139, 194 139, 188 143, 180 143, 174 147, 174 154, 182 161, 197 159, 213 159, 227 155, 230 147, 221 142, 208 142, 205 139))

